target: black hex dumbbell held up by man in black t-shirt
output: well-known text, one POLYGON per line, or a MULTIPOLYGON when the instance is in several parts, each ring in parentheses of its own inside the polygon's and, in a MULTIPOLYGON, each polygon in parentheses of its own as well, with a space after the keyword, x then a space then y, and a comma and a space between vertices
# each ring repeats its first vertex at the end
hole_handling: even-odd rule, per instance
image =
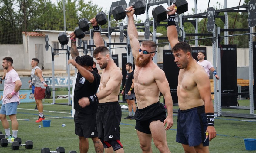
MULTIPOLYGON (((85 36, 84 32, 79 27, 75 28, 75 35, 78 39, 82 39, 85 36)), ((68 44, 69 37, 70 36, 67 35, 65 32, 59 33, 59 36, 58 36, 59 43, 62 45, 68 44)))

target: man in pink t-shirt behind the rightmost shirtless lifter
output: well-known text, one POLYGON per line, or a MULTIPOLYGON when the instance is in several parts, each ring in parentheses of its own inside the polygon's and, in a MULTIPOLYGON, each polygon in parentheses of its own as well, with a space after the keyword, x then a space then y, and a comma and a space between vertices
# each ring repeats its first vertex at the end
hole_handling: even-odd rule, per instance
POLYGON ((208 74, 209 77, 210 77, 209 72, 211 70, 214 77, 216 79, 219 79, 219 76, 218 76, 216 70, 214 69, 214 67, 212 66, 211 62, 209 62, 207 60, 204 60, 204 57, 205 57, 204 52, 198 52, 198 54, 197 54, 197 59, 198 59, 197 63, 204 68, 205 72, 208 74))

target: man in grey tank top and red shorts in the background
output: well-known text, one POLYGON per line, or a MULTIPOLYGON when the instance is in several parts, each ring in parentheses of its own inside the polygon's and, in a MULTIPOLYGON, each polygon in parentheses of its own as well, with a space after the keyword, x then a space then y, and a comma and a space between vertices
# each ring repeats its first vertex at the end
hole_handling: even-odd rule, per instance
POLYGON ((31 60, 31 79, 32 79, 32 84, 35 86, 34 90, 34 97, 35 97, 35 103, 38 108, 39 112, 39 117, 38 120, 35 122, 41 122, 42 120, 45 119, 44 113, 43 113, 43 104, 42 104, 42 99, 45 97, 45 89, 47 84, 44 81, 42 70, 40 69, 39 66, 37 66, 39 63, 39 60, 37 58, 33 58, 31 60))

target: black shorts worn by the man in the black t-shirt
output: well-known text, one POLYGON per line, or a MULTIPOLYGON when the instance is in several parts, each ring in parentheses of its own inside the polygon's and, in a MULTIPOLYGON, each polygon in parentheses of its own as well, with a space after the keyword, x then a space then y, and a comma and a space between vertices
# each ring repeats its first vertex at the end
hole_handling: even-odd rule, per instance
POLYGON ((98 136, 96 125, 96 113, 84 114, 75 111, 75 134, 85 138, 93 138, 98 136))

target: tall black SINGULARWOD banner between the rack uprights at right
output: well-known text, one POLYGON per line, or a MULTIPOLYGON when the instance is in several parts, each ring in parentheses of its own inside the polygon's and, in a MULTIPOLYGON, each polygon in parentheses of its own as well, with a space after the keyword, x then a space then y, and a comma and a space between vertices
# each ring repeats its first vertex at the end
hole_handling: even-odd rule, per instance
MULTIPOLYGON (((237 47, 220 45, 221 93, 237 93, 237 47)), ((222 106, 237 106, 237 95, 221 96, 222 106)))

